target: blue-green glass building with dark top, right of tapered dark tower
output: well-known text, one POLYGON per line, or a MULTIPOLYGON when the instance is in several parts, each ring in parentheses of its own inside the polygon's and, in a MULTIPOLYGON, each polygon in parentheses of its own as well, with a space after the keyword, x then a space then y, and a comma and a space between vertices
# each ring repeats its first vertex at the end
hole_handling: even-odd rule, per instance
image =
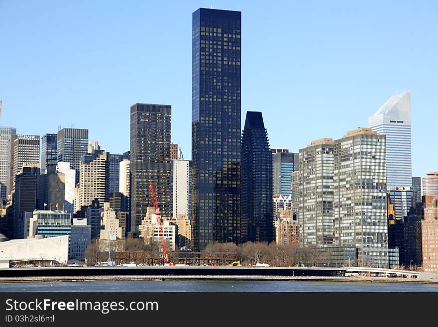
POLYGON ((272 154, 273 194, 291 194, 291 174, 297 167, 298 153, 283 150, 272 154))

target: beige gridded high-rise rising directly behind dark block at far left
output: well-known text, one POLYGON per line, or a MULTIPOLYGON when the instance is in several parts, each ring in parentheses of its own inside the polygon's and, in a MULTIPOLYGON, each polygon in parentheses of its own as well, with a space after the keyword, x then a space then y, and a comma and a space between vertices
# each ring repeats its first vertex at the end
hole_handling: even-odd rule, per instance
POLYGON ((21 169, 25 165, 39 166, 39 135, 11 136, 11 188, 13 188, 15 176, 21 174, 21 169))

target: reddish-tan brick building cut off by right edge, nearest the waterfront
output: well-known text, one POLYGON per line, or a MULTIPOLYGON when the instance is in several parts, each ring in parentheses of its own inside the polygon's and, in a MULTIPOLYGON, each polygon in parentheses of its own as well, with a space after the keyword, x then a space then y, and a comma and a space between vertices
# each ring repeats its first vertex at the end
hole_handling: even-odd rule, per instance
POLYGON ((424 220, 421 222, 421 231, 423 246, 423 269, 425 272, 437 273, 438 199, 435 197, 426 197, 426 207, 424 208, 424 220))

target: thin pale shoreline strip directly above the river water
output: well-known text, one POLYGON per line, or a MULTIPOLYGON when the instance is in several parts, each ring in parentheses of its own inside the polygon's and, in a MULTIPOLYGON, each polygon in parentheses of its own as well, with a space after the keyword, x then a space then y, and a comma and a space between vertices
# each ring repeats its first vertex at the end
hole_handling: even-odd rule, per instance
POLYGON ((54 282, 104 282, 104 281, 188 281, 188 280, 252 280, 252 281, 330 281, 330 282, 378 282, 378 283, 438 283, 438 280, 388 277, 344 277, 344 276, 214 276, 214 275, 108 275, 108 276, 44 276, 44 277, 0 277, 5 283, 54 283, 54 282))

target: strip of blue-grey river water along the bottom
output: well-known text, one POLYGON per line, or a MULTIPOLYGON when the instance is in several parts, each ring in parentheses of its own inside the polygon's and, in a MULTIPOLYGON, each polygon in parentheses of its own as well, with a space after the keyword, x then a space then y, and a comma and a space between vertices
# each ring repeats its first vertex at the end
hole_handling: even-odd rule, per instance
POLYGON ((92 281, 0 283, 0 292, 438 292, 438 284, 333 281, 92 281))

